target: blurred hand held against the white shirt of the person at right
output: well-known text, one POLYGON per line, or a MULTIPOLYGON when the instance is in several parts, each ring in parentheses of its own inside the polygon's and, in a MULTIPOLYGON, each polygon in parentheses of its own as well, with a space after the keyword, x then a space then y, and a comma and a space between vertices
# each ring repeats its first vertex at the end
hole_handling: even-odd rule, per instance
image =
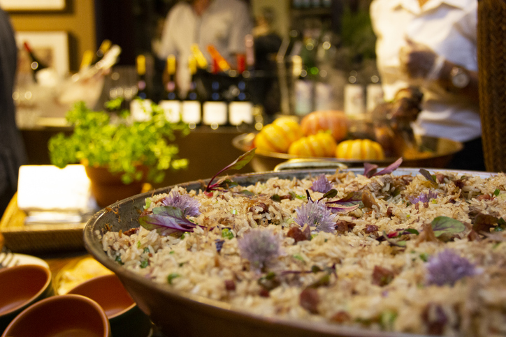
MULTIPOLYGON (((438 54, 435 54, 435 52, 426 45, 416 43, 409 38, 406 38, 406 43, 407 45, 400 48, 399 51, 401 71, 411 79, 424 80, 427 79, 429 75, 433 75, 431 73, 435 66, 435 61, 438 58, 438 54)), ((435 80, 437 80, 437 78, 435 80)))

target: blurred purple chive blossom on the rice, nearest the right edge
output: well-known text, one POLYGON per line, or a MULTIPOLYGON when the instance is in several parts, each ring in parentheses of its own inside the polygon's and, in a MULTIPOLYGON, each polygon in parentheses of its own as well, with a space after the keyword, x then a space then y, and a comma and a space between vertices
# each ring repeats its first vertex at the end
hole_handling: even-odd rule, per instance
POLYGON ((429 285, 454 285, 465 276, 475 276, 482 273, 465 257, 446 249, 427 262, 426 276, 429 285))

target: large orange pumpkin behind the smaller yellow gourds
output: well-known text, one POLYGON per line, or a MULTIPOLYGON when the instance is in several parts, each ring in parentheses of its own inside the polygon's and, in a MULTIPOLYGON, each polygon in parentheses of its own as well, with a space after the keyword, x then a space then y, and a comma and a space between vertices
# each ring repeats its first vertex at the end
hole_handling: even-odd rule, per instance
POLYGON ((301 120, 304 135, 315 135, 321 130, 330 130, 336 142, 344 140, 348 132, 348 119, 338 110, 315 111, 301 120))

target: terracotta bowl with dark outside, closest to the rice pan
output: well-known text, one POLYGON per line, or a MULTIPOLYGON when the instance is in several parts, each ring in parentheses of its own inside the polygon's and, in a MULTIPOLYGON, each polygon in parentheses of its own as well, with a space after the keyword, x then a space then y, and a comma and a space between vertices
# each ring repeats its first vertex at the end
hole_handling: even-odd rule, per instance
POLYGON ((138 308, 115 274, 87 280, 68 294, 78 294, 96 301, 106 312, 113 336, 145 337, 150 334, 150 318, 138 308))

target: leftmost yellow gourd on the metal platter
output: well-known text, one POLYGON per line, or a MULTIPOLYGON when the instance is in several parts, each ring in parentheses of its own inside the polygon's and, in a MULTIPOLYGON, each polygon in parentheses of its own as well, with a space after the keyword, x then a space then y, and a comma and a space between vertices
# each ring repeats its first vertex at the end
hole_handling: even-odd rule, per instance
POLYGON ((256 149, 287 153, 290 144, 303 137, 301 126, 291 117, 280 117, 255 136, 256 149))

